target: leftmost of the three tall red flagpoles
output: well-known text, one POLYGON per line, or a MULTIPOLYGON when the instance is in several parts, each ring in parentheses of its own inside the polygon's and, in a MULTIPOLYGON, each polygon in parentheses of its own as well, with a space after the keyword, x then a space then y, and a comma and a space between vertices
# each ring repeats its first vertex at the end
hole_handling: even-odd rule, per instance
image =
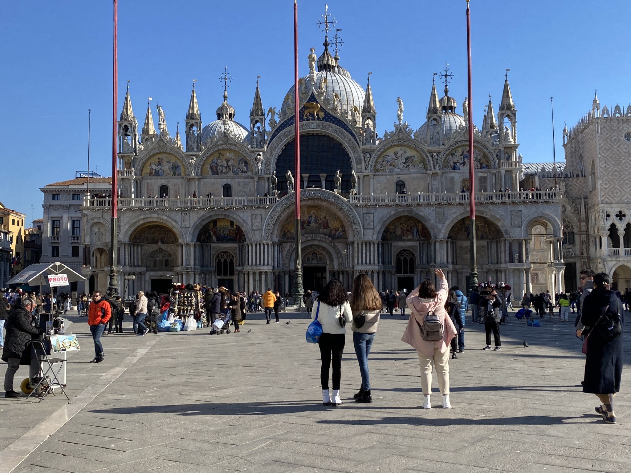
POLYGON ((117 33, 118 33, 118 0, 114 0, 114 74, 112 77, 112 221, 110 225, 110 277, 109 288, 107 288, 110 295, 118 294, 118 277, 116 274, 117 264, 117 231, 116 231, 116 217, 118 206, 118 172, 117 172, 117 122, 116 112, 118 108, 118 47, 117 47, 117 33))

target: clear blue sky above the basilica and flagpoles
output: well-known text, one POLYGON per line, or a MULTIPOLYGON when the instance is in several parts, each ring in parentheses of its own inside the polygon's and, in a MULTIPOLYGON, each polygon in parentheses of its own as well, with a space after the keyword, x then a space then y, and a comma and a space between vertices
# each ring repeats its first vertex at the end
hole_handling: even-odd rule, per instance
MULTIPOLYGON (((184 124, 192 79, 204 124, 221 102, 219 75, 233 76, 228 102, 248 124, 256 76, 263 106, 280 109, 292 84, 292 1, 119 0, 119 112, 127 79, 134 114, 142 126, 148 96, 165 110, 175 132, 184 124)), ((449 62, 450 95, 466 96, 464 0, 328 0, 345 42, 340 64, 365 86, 368 71, 377 128, 391 130, 396 97, 404 119, 425 121, 432 73, 449 62)), ((602 105, 631 101, 628 1, 472 0, 473 117, 481 125, 492 93, 495 112, 505 68, 517 107, 517 133, 525 161, 551 161, 550 96, 555 98, 557 159, 563 159, 563 121, 574 124, 591 108, 594 90, 602 105)), ((322 51, 315 25, 324 1, 299 1, 300 74, 307 54, 322 51)), ((0 201, 42 215, 45 184, 85 170, 88 108, 92 109, 91 168, 110 174, 112 103, 112 2, 20 1, 3 4, 2 114, 6 131, 0 159, 0 201)), ((461 110, 461 107, 458 108, 461 110)))

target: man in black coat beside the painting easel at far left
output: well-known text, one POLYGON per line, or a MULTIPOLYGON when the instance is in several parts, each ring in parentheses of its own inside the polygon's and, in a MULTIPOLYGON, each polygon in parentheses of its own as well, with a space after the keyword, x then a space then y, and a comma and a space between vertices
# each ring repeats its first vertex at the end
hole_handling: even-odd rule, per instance
POLYGON ((33 336, 38 336, 44 329, 37 329, 31 325, 31 311, 35 308, 35 302, 24 299, 21 305, 14 305, 6 319, 6 341, 2 352, 2 359, 9 367, 4 373, 4 397, 21 397, 19 392, 13 390, 13 377, 20 365, 30 365, 31 378, 37 377, 40 364, 37 356, 32 356, 30 341, 33 336))

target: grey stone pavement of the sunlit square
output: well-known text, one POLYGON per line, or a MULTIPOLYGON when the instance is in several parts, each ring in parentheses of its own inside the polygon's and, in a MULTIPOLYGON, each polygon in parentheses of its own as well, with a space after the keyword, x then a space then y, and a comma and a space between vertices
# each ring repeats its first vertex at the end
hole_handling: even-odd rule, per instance
POLYGON ((513 318, 500 352, 482 351, 483 325, 468 324, 466 351, 450 363, 452 409, 435 394, 437 408, 424 411, 418 358, 400 341, 407 317, 382 316, 373 404, 352 402, 360 375, 349 330, 339 408, 322 407, 306 314, 281 317, 266 325, 251 314, 240 334, 105 336, 98 365, 88 364, 85 318, 73 318, 82 349, 68 366, 71 402, 0 398, 0 472, 18 455, 15 473, 631 471, 629 371, 618 424, 601 423, 596 397, 581 392, 572 323, 513 318))

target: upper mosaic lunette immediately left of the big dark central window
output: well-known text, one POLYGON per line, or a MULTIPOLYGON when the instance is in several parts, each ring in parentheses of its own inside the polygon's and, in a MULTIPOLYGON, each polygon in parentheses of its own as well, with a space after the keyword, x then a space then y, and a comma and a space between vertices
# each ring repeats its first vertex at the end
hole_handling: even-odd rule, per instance
POLYGON ((238 143, 221 143, 202 151, 195 165, 195 175, 254 175, 249 149, 238 143))

